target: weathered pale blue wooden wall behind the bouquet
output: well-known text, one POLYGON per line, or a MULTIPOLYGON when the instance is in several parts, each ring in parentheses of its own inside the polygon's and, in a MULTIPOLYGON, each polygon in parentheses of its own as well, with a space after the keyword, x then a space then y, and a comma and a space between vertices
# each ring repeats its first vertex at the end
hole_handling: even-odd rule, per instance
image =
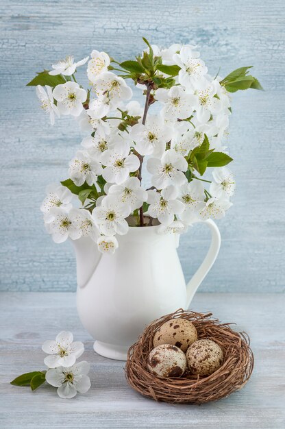
MULTIPOLYGON (((67 177, 81 137, 72 119, 51 127, 38 108, 36 71, 92 49, 119 60, 152 43, 195 41, 212 74, 254 66, 266 92, 233 95, 234 206, 219 221, 222 247, 203 291, 284 291, 284 2, 282 0, 89 0, 0 2, 1 289, 74 291, 69 243, 45 233, 45 186, 67 177)), ((202 225, 182 237, 190 277, 206 253, 202 225)))

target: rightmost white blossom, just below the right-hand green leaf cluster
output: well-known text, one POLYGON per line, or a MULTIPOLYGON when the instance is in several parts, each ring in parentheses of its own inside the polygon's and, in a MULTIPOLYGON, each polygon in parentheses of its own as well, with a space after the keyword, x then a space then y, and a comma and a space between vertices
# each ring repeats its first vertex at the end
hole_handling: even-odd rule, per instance
POLYGON ((215 169, 212 172, 214 182, 210 184, 210 194, 213 197, 227 199, 234 195, 236 183, 234 182, 234 175, 232 171, 226 167, 215 169))

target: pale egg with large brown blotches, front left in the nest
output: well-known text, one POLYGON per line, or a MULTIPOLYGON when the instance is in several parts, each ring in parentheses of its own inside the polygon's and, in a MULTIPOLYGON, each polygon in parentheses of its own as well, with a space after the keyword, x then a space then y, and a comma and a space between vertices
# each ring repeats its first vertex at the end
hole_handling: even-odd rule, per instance
POLYGON ((156 376, 180 377, 186 370, 186 356, 179 347, 172 344, 162 344, 149 353, 147 367, 156 376))

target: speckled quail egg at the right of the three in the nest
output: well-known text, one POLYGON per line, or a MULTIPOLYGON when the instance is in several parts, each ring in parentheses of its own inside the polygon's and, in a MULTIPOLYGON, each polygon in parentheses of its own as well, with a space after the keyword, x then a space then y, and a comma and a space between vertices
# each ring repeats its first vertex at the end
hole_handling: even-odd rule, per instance
POLYGON ((186 352, 187 366, 196 376, 210 376, 223 363, 223 350, 212 340, 195 341, 186 352))

